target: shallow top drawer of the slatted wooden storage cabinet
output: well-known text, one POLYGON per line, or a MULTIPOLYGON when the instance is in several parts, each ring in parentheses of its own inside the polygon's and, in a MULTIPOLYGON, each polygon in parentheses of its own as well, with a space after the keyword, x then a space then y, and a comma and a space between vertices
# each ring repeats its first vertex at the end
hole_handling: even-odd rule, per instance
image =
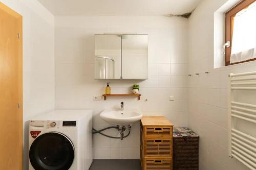
POLYGON ((145 138, 172 138, 173 137, 173 127, 144 127, 145 138))

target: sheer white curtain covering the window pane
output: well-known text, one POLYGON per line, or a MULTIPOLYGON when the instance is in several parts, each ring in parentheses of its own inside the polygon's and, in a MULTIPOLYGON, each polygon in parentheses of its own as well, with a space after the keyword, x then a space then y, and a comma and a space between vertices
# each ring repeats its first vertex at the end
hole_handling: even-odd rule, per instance
POLYGON ((234 16, 230 63, 256 58, 256 2, 234 16))

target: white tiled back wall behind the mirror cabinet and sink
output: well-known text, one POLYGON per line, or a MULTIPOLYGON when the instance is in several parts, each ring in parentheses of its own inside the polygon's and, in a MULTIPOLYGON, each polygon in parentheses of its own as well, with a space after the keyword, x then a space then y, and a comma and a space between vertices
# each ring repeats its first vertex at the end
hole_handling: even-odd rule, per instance
MULTIPOLYGON (((108 127, 100 117, 104 109, 137 108, 144 114, 164 115, 177 126, 187 126, 187 19, 176 17, 56 17, 55 18, 56 109, 94 110, 94 128, 108 127), (145 81, 94 80, 94 34, 148 34, 149 78, 145 81), (108 98, 102 95, 106 82, 112 93, 131 93, 139 83, 142 98, 108 98), (168 101, 169 95, 175 101, 168 101), (148 101, 145 102, 145 99, 148 101)), ((118 135, 115 130, 107 134, 118 135)), ((139 123, 123 141, 94 135, 94 159, 139 159, 139 123)))

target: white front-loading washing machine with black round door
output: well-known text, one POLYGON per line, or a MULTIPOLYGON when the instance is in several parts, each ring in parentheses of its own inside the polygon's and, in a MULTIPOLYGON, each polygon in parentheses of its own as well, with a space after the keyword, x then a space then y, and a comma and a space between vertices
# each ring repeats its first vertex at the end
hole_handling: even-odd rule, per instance
POLYGON ((29 170, 88 170, 92 111, 57 110, 30 120, 29 170))

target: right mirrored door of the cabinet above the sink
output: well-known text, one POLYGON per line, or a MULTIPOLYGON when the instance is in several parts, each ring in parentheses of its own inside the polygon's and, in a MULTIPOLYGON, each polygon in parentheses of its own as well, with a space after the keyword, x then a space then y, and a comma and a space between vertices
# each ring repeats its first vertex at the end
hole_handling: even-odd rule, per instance
POLYGON ((122 78, 147 79, 147 56, 147 35, 122 35, 122 78))

